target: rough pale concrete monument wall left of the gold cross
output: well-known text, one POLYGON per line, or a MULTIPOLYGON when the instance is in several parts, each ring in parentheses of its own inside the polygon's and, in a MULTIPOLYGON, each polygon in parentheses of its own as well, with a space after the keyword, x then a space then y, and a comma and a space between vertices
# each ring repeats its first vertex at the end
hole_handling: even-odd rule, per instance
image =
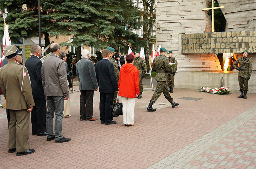
POLYGON ((182 54, 181 34, 211 32, 211 17, 202 11, 210 0, 156 0, 157 45, 173 51, 177 71, 220 71, 214 54, 182 54))

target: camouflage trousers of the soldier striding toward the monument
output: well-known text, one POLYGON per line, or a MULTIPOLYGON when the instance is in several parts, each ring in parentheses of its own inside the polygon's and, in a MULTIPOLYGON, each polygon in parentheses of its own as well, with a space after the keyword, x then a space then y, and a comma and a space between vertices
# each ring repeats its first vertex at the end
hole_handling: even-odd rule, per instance
POLYGON ((156 100, 160 97, 161 94, 164 94, 165 98, 170 102, 172 101, 172 97, 169 93, 169 90, 167 88, 166 81, 158 81, 158 84, 156 86, 155 92, 153 96, 151 97, 150 103, 155 103, 156 100))

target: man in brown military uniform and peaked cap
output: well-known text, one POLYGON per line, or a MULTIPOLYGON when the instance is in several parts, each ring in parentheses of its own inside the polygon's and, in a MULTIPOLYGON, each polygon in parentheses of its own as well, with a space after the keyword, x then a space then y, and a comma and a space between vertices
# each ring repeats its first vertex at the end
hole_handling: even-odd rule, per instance
POLYGON ((15 45, 4 48, 8 63, 0 70, 0 86, 6 98, 6 108, 10 109, 9 151, 17 156, 35 152, 29 149, 29 117, 34 100, 28 71, 21 66, 22 52, 15 45))

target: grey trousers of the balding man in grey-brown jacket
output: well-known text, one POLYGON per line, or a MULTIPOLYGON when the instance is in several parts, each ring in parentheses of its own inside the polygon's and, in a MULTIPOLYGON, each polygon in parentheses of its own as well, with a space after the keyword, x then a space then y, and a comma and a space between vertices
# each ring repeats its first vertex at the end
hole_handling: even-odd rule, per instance
POLYGON ((47 96, 47 113, 46 113, 46 130, 47 138, 54 136, 53 133, 53 118, 55 111, 55 140, 60 140, 62 136, 62 120, 64 110, 64 96, 47 96))

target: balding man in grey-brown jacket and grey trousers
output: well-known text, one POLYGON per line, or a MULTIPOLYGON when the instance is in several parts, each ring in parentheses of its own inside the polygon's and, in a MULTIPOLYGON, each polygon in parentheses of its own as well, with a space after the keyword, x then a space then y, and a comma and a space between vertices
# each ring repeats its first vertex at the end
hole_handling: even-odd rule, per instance
POLYGON ((50 45, 52 54, 44 60, 42 65, 42 81, 48 109, 46 113, 47 141, 55 139, 56 143, 70 141, 62 136, 64 100, 68 100, 69 91, 65 62, 59 58, 61 50, 57 43, 50 45), (54 112, 56 116, 55 135, 53 133, 54 112))

